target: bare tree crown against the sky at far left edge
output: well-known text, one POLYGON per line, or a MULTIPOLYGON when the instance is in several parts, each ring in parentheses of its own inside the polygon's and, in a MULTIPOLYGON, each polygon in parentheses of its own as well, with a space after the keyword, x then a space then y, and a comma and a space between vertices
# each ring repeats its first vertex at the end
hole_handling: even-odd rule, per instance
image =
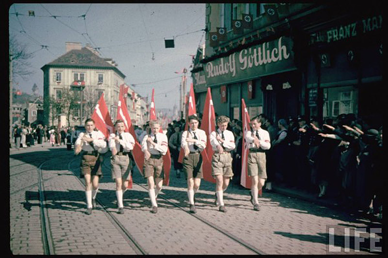
POLYGON ((32 53, 27 51, 25 45, 17 42, 15 35, 10 35, 9 38, 10 62, 12 62, 12 77, 17 76, 27 81, 35 72, 32 70, 31 64, 28 62, 33 57, 32 53))

